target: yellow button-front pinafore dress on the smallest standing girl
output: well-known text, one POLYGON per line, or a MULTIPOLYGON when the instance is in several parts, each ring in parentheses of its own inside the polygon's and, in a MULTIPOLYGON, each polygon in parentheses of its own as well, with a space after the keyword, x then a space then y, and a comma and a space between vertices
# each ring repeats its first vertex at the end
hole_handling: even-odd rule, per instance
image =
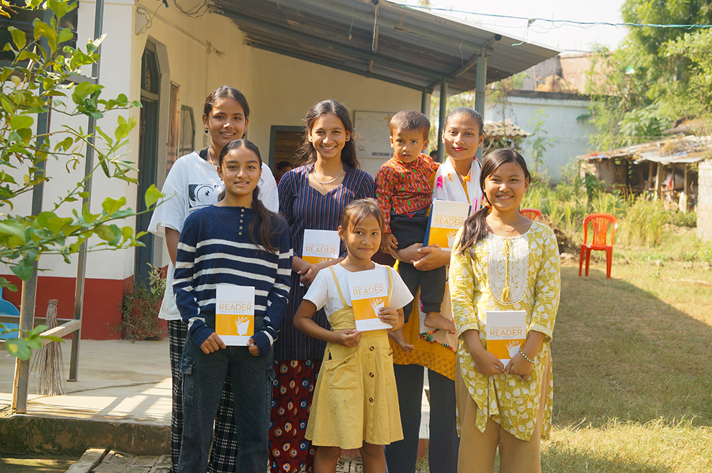
MULTIPOLYGON (((356 328, 353 308, 346 304, 334 269, 329 269, 343 304, 329 316, 331 328, 356 328)), ((390 296, 392 269, 387 271, 390 296)), ((403 440, 393 352, 385 330, 362 332, 354 348, 327 343, 305 437, 313 445, 342 449, 403 440)))

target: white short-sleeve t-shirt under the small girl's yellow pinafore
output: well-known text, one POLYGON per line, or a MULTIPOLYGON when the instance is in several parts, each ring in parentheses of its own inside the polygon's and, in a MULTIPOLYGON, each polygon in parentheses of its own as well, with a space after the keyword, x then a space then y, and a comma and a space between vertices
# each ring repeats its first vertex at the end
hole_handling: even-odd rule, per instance
MULTIPOLYGON (((376 269, 383 271, 386 281, 388 281, 388 271, 387 266, 382 266, 381 264, 374 263, 376 269)), ((344 269, 340 264, 335 264, 330 266, 334 269, 336 273, 336 279, 339 281, 339 287, 341 293, 344 296, 344 300, 347 305, 351 305, 351 295, 349 291, 349 280, 348 275, 351 271, 344 269)), ((393 278, 391 298, 389 306, 395 309, 403 308, 407 303, 413 300, 413 295, 408 290, 408 286, 405 285, 403 280, 398 274, 398 271, 390 268, 390 272, 393 278)), ((336 288, 334 281, 334 276, 331 274, 329 268, 322 269, 314 278, 309 290, 304 296, 308 301, 312 301, 316 306, 317 310, 324 308, 327 317, 338 311, 343 307, 341 303, 341 298, 339 297, 339 291, 336 288)))

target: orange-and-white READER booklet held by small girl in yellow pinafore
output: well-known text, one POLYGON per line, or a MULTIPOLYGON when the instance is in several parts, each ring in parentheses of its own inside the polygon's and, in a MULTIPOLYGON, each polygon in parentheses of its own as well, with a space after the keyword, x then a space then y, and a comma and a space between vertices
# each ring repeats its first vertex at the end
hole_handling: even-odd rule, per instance
MULTIPOLYGON (((387 271, 387 270, 386 270, 387 271)), ((349 273, 351 306, 358 331, 390 329, 393 326, 378 318, 378 309, 387 307, 388 275, 383 268, 349 273)))

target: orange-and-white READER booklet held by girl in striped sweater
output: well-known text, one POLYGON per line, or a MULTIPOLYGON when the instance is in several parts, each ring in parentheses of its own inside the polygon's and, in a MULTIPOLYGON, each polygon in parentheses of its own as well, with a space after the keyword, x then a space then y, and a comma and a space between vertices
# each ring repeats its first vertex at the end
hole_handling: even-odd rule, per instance
POLYGON ((229 284, 216 287, 215 333, 225 345, 247 345, 255 333, 255 288, 229 284))

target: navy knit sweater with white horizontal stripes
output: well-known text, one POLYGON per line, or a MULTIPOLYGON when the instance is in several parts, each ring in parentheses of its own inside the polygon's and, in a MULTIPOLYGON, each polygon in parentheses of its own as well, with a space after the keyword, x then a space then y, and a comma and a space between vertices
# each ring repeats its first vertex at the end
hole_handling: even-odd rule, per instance
POLYGON ((190 336, 201 345, 215 331, 215 288, 218 284, 253 286, 255 316, 265 326, 253 341, 264 356, 277 338, 290 289, 292 249, 286 221, 273 218, 271 253, 248 236, 252 209, 211 205, 186 219, 180 234, 173 290, 190 336))

